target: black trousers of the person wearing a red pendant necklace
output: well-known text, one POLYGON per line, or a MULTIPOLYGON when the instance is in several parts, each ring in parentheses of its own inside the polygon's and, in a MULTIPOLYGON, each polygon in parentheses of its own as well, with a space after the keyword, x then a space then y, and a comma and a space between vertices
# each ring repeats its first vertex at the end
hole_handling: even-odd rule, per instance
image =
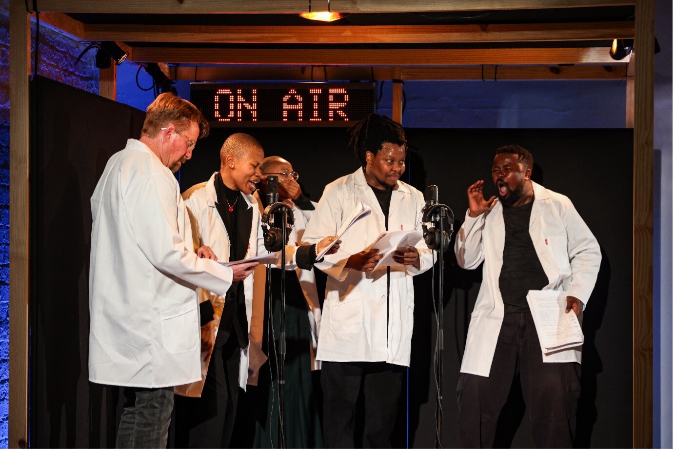
POLYGON ((202 397, 176 396, 176 448, 227 448, 237 412, 240 354, 232 333, 213 350, 202 397))

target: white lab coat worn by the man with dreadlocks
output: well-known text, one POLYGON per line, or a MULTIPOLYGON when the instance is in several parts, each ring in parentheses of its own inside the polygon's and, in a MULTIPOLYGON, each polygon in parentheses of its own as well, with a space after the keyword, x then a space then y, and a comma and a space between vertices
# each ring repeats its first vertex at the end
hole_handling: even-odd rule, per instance
MULTIPOLYGON (((326 256, 316 265, 329 275, 317 360, 408 366, 414 309, 412 276, 427 271, 433 264, 433 255, 424 240, 416 244, 420 269, 391 267, 387 309, 386 267, 372 274, 345 268, 350 255, 364 250, 385 231, 382 209, 360 167, 326 186, 304 232, 304 240, 317 242, 324 236, 335 235, 359 201, 371 207, 372 213, 342 236, 338 253, 326 256)), ((422 193, 399 180, 391 193, 389 230, 421 230, 424 206, 422 193)))

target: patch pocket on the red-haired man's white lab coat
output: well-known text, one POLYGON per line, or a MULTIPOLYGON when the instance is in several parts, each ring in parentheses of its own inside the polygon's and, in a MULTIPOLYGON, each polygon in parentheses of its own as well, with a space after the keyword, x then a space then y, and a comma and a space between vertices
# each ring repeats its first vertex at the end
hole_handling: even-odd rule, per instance
POLYGON ((190 352, 199 345, 196 304, 187 304, 159 314, 164 348, 171 354, 190 352))

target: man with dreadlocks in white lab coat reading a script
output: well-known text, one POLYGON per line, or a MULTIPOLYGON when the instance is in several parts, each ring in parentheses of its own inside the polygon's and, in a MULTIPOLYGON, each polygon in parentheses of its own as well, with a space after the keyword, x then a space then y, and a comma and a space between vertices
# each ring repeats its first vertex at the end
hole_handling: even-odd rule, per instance
POLYGON ((317 348, 323 439, 327 448, 354 448, 362 390, 362 445, 391 448, 403 374, 410 365, 412 276, 431 268, 432 253, 420 240, 396 251, 398 265, 373 271, 382 255, 364 249, 385 230, 421 230, 425 202, 421 192, 399 180, 406 169, 400 124, 371 114, 350 131, 360 167, 326 186, 303 238, 316 242, 335 235, 358 203, 372 209, 342 236, 340 250, 316 265, 329 275, 317 348))

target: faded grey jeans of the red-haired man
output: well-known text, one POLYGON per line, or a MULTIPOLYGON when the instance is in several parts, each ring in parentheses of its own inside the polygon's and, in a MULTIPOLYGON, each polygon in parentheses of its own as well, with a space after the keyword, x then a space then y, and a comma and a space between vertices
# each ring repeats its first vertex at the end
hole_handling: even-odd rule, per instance
POLYGON ((124 410, 116 448, 166 448, 173 410, 173 387, 124 388, 124 410))

